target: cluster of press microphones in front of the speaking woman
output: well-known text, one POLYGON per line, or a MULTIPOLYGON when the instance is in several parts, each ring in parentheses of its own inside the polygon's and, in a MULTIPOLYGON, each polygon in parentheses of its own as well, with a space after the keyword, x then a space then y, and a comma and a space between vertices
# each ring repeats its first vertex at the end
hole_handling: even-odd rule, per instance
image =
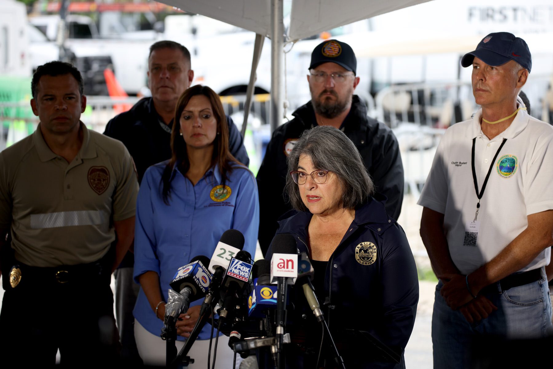
POLYGON ((299 253, 294 235, 275 236, 270 262, 259 260, 252 265, 251 254, 243 251, 243 246, 242 233, 228 230, 217 243, 211 260, 196 257, 176 272, 170 283, 175 303, 174 307, 169 303, 166 307, 166 323, 174 325, 179 311, 186 311, 190 302, 205 298, 194 329, 171 365, 187 355, 217 303, 217 329, 229 336, 228 344, 234 352, 246 357, 251 350, 270 350, 279 369, 285 365, 283 345, 291 341, 285 332, 286 305, 290 303, 288 309, 294 309, 294 302, 288 301, 290 285, 301 288, 316 320, 326 326, 311 284, 314 269, 307 254, 299 253))

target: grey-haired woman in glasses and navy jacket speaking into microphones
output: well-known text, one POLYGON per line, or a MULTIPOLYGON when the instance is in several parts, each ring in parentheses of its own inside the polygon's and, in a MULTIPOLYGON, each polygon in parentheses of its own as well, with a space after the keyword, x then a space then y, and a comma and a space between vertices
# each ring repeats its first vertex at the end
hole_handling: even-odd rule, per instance
MULTIPOLYGON (((291 233, 298 250, 307 253, 317 299, 346 368, 404 368, 403 350, 419 300, 415 261, 403 229, 385 211, 383 196, 374 194, 361 155, 339 129, 317 126, 295 144, 288 170, 286 192, 294 210, 279 221, 276 236, 291 233), (365 332, 401 362, 379 357, 365 332)), ((301 349, 285 346, 286 366, 336 367, 328 340, 321 346, 321 326, 302 292, 296 288, 291 296, 296 310, 300 306, 300 313, 289 314, 291 340, 298 338, 298 322, 309 334, 301 349), (294 321, 294 316, 300 318, 294 321)))

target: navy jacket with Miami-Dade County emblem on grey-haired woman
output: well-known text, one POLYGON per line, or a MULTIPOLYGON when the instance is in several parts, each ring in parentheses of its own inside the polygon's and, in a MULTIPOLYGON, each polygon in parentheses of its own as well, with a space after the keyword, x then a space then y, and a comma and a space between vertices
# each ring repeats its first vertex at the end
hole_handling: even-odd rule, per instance
MULTIPOLYGON (((290 211, 286 215, 291 216, 279 221, 276 233, 292 233, 298 250, 310 256, 307 226, 312 214, 309 211, 290 211)), ((272 248, 271 245, 267 254, 269 260, 272 248)), ((356 208, 351 227, 328 261, 325 286, 329 304, 322 311, 333 339, 341 346, 339 350, 346 367, 405 367, 403 362, 398 365, 370 362, 368 351, 354 350, 354 342, 348 342, 351 335, 344 331, 368 331, 403 357, 413 330, 419 301, 415 260, 403 228, 387 215, 383 202, 370 198, 356 208), (377 250, 375 260, 359 258, 366 265, 356 258, 356 248, 363 242, 371 242, 377 250)), ((301 304, 296 302, 296 305, 301 304)), ((312 313, 306 314, 312 317, 312 313)))

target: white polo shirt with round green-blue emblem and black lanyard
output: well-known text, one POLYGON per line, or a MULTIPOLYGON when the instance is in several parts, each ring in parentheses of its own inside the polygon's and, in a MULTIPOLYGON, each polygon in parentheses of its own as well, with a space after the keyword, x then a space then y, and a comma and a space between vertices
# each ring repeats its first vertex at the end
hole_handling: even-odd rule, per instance
MULTIPOLYGON (((432 169, 418 204, 444 214, 444 230, 453 263, 462 274, 491 261, 528 226, 527 216, 553 209, 553 127, 525 110, 493 139, 480 126, 482 110, 473 119, 447 129, 436 150, 432 169), (474 220, 478 197, 472 177, 472 140, 478 191, 489 176, 480 200, 480 230, 476 245, 466 245, 465 230, 474 220), (507 142, 492 163, 504 138, 507 142), (463 242, 465 240, 465 242, 463 242)), ((549 263, 551 248, 520 271, 549 263)))

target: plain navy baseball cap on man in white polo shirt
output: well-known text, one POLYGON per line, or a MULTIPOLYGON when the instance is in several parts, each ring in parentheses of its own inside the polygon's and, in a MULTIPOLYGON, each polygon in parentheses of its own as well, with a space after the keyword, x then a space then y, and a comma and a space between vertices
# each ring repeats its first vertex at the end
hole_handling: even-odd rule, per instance
POLYGON ((526 41, 508 32, 490 33, 484 37, 476 50, 463 56, 461 65, 472 65, 474 56, 488 65, 498 66, 514 60, 528 69, 528 72, 532 68, 532 56, 526 41))

